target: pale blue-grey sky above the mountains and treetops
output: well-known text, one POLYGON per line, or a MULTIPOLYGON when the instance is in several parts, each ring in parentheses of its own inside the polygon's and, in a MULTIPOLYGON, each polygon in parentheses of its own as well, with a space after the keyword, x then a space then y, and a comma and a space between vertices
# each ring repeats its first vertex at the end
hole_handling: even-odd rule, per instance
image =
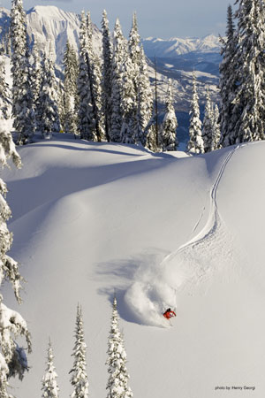
MULTIPOLYGON (((224 34, 226 11, 233 0, 24 0, 25 10, 34 5, 56 5, 64 11, 90 11, 93 22, 100 27, 102 10, 108 13, 110 29, 120 19, 124 34, 132 25, 136 11, 142 38, 203 37, 224 34)), ((0 0, 5 8, 11 1, 0 0)))

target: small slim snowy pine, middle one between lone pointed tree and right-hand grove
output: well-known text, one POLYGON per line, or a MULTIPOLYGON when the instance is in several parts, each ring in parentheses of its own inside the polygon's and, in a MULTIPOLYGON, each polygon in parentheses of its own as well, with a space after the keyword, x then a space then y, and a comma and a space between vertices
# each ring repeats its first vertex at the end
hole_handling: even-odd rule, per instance
POLYGON ((211 102, 210 95, 207 89, 204 118, 202 122, 202 131, 201 131, 204 152, 210 152, 212 149, 214 127, 215 127, 215 118, 214 118, 213 103, 211 102))

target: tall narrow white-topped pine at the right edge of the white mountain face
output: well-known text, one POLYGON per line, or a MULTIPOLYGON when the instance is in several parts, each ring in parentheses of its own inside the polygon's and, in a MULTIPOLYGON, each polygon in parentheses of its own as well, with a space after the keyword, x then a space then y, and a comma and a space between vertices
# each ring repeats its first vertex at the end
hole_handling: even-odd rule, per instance
POLYGON ((80 138, 87 141, 96 141, 95 120, 91 102, 89 70, 87 65, 87 51, 89 50, 87 37, 87 19, 85 12, 81 12, 79 29, 79 76, 77 80, 78 91, 78 131, 80 138))

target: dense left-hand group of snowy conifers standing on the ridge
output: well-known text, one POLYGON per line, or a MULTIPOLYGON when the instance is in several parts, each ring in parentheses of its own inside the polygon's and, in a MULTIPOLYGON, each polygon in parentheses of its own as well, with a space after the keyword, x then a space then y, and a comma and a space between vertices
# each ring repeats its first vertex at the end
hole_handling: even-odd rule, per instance
POLYGON ((178 122, 171 83, 163 124, 158 128, 136 15, 129 39, 125 39, 117 19, 111 40, 107 13, 103 11, 102 56, 93 48, 92 35, 90 13, 82 12, 79 54, 67 42, 64 82, 58 87, 55 55, 51 49, 49 54, 41 54, 37 42, 32 52, 29 50, 22 1, 12 1, 11 102, 18 143, 31 142, 34 132, 49 138, 53 132, 63 131, 88 141, 140 144, 151 150, 177 149, 178 122))

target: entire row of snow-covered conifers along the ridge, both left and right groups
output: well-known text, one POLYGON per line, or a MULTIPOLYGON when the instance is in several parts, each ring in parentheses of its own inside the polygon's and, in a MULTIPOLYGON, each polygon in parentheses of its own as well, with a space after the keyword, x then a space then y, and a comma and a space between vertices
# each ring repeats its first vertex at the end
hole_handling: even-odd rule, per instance
MULTIPOLYGON (((226 38, 220 38, 220 114, 207 93, 202 122, 193 74, 187 144, 192 153, 264 139, 264 2, 237 3, 235 15, 231 6, 228 8, 226 38)), ((158 126, 156 79, 154 93, 135 14, 129 39, 125 39, 117 19, 110 40, 107 13, 103 11, 99 56, 93 48, 90 14, 82 12, 79 54, 67 42, 64 82, 59 87, 52 51, 40 54, 37 42, 32 54, 28 49, 21 0, 12 2, 10 38, 12 116, 19 144, 31 142, 34 132, 49 138, 53 132, 64 131, 88 141, 140 144, 154 151, 178 149, 172 83, 169 80, 163 122, 158 126)), ((0 69, 1 119, 6 119, 10 98, 3 65, 0 69)))

